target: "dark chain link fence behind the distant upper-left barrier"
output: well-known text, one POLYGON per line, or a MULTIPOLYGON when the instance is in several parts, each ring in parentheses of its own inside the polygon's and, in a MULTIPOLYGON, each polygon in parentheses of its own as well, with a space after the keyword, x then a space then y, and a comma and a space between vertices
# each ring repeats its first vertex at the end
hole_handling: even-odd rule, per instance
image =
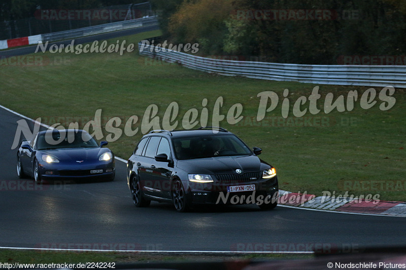
POLYGON ((37 9, 34 17, 0 22, 0 40, 154 16, 149 2, 82 10, 37 9))

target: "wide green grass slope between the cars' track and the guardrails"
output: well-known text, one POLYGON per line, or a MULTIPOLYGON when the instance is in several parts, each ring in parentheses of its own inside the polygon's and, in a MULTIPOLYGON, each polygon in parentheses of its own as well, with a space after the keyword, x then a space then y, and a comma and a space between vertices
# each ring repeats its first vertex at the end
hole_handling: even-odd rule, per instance
MULTIPOLYGON (((126 40, 126 44, 138 43, 143 38, 159 34, 159 31, 151 31, 120 40, 126 40)), ((276 123, 278 118, 282 119, 284 89, 289 89, 289 117, 292 117, 294 102, 300 96, 309 97, 316 85, 215 75, 141 57, 137 52, 122 56, 116 53, 75 55, 48 52, 40 56, 49 59, 47 63, 52 65, 2 66, 0 104, 33 119, 41 117, 45 124, 60 122, 65 127, 72 120, 83 125, 93 119, 97 109, 102 109, 102 126, 108 119, 119 117, 123 129, 128 118, 137 115, 138 122, 132 129, 138 127, 138 133, 131 137, 123 134, 109 143, 109 147, 123 159, 131 155, 142 136, 141 123, 148 105, 157 105, 162 127, 167 106, 177 102, 179 113, 175 121, 178 121, 177 128, 182 129, 182 118, 191 108, 197 109, 199 121, 205 98, 208 99, 208 124, 211 124, 213 106, 221 96, 221 114, 227 115, 233 104, 241 103, 245 119, 236 125, 223 120, 220 126, 240 136, 250 147, 263 149, 260 157, 276 167, 281 189, 308 191, 316 195, 322 195, 324 190, 343 194, 346 191, 343 181, 346 180, 404 180, 405 90, 396 89, 393 95, 395 105, 382 111, 379 105, 383 102, 378 98, 382 87, 375 87, 377 104, 362 109, 359 100, 368 87, 319 85, 321 98, 317 107, 321 111, 310 114, 309 102, 301 108, 308 108, 305 118, 325 118, 327 125, 299 127, 291 122, 272 125, 272 119, 276 119, 276 123), (334 109, 328 114, 323 112, 327 93, 332 93, 334 100, 339 95, 344 95, 346 100, 351 90, 357 90, 359 95, 352 111, 334 109), (279 96, 278 106, 265 115, 270 124, 269 121, 255 121, 259 106, 257 94, 263 91, 274 91, 279 96), (348 124, 350 120, 353 122, 348 124)), ((111 132, 102 129, 103 139, 106 139, 111 132)), ((381 200, 406 201, 404 189, 406 186, 403 185, 397 191, 390 188, 348 191, 355 196, 379 194, 381 200)))

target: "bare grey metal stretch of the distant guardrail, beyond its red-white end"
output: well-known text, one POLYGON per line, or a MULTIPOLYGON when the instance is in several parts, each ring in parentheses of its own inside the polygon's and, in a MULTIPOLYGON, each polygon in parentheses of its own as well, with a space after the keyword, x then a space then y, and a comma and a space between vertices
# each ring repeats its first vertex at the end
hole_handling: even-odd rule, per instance
POLYGON ((61 40, 70 40, 71 38, 83 37, 87 35, 107 33, 117 30, 125 30, 131 28, 137 28, 141 26, 152 26, 157 25, 158 19, 156 16, 140 18, 127 21, 119 21, 107 24, 100 24, 95 26, 89 26, 74 30, 60 31, 49 34, 42 35, 42 42, 52 42, 52 41, 61 41, 61 40))

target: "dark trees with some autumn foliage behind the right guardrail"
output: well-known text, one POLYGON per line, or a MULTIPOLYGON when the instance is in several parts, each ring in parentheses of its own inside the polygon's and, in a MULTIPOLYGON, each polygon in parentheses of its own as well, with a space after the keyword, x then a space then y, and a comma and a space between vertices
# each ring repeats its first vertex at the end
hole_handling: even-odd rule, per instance
MULTIPOLYGON (((343 64, 351 56, 403 56, 403 0, 151 0, 163 35, 205 55, 343 64)), ((359 58, 358 58, 359 59, 359 58)), ((353 64, 357 64, 354 62, 353 64)), ((403 63, 406 64, 406 63, 403 63)))

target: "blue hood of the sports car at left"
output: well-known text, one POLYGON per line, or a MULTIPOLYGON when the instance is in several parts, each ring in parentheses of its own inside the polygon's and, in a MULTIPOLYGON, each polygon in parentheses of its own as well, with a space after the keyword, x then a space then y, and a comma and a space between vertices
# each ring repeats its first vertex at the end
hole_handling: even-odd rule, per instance
POLYGON ((42 150, 43 153, 48 153, 54 156, 59 161, 90 161, 98 160, 99 156, 104 152, 109 152, 108 148, 100 147, 79 147, 79 148, 59 148, 52 150, 42 150))

